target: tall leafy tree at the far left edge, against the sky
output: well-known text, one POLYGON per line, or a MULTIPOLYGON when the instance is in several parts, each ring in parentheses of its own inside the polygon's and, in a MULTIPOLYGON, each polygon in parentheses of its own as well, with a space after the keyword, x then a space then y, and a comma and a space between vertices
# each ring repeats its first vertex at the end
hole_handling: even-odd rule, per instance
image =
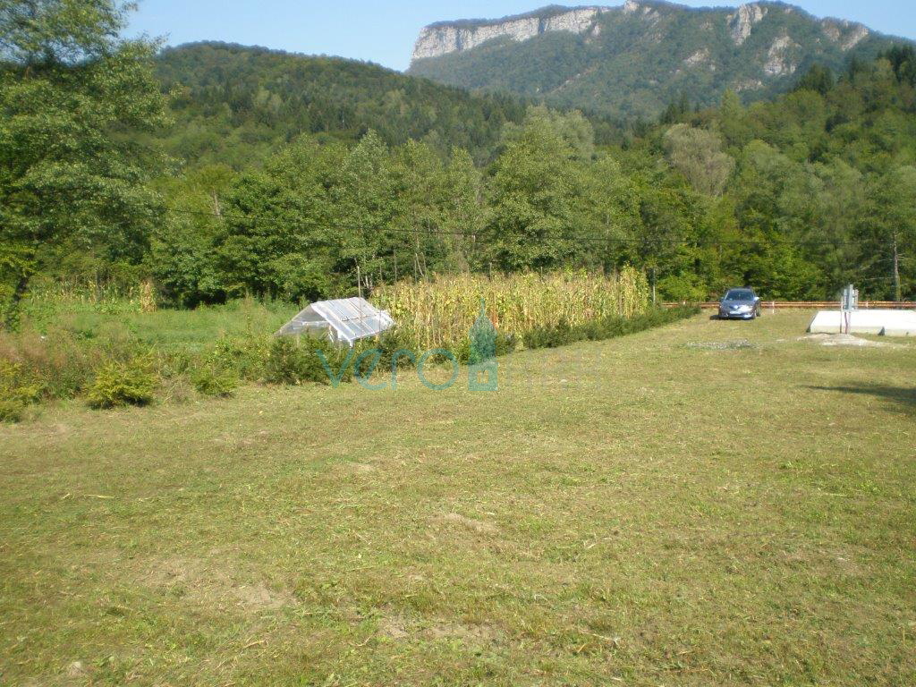
POLYGON ((158 213, 152 159, 125 136, 165 121, 155 46, 120 32, 132 5, 0 0, 0 240, 7 315, 64 246, 138 262, 158 213), (15 254, 15 257, 13 256, 15 254))

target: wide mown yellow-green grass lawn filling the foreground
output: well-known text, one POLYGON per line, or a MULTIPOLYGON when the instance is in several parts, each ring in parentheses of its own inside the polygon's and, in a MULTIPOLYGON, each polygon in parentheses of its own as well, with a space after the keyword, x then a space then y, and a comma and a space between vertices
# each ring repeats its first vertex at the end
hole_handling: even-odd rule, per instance
POLYGON ((916 345, 809 319, 2 426, 0 683, 913 684, 916 345))

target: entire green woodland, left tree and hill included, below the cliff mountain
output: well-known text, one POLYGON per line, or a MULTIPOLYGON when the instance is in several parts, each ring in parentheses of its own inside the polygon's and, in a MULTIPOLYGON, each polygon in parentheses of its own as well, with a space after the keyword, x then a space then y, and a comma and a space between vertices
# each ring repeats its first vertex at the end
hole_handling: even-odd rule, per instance
POLYGON ((578 112, 345 60, 157 58, 113 38, 125 16, 107 0, 81 4, 49 1, 30 22, 0 11, 7 322, 37 278, 153 278, 161 300, 192 306, 629 264, 666 300, 736 284, 827 298, 847 281, 914 295, 911 48, 815 66, 769 103, 677 101, 608 145, 578 112), (289 70, 314 88, 281 87, 289 70))

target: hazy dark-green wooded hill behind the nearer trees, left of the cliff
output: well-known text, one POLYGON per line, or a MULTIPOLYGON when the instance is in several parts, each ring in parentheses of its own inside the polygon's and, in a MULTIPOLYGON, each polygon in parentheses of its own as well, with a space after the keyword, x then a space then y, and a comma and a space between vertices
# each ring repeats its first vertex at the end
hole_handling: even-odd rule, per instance
POLYGON ((471 95, 373 64, 224 43, 163 50, 156 76, 173 92, 175 125, 160 140, 172 156, 243 169, 300 134, 355 141, 372 129, 388 145, 458 146, 484 161, 516 98, 471 95))

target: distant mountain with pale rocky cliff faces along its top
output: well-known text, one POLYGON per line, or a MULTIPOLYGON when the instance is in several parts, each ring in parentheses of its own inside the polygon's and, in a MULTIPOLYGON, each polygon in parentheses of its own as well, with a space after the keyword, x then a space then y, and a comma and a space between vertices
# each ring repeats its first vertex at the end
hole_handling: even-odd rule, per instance
POLYGON ((842 69, 895 40, 856 22, 819 19, 782 3, 691 8, 652 0, 551 5, 496 20, 440 22, 420 31, 409 73, 551 104, 654 117, 686 93, 712 104, 791 87, 819 62, 842 69))

